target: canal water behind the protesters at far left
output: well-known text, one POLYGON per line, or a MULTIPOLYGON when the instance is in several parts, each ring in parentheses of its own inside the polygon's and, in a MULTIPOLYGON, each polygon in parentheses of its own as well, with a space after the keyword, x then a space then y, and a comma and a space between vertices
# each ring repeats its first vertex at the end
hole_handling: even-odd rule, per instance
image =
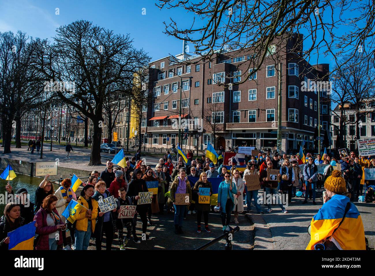
MULTIPOLYGON (((3 170, 0 170, 0 174, 1 173, 3 173, 3 170)), ((20 173, 16 173, 16 175, 17 175, 16 178, 14 178, 12 181, 9 181, 10 186, 12 186, 13 188, 13 192, 17 192, 17 190, 20 188, 26 188, 27 192, 30 194, 30 201, 34 202, 36 188, 39 186, 40 182, 42 182, 43 178, 23 175, 20 173)), ((54 180, 52 179, 53 176, 51 176, 50 178, 51 180, 54 180)), ((6 192, 5 186, 7 182, 8 181, 4 179, 0 179, 0 194, 4 195, 4 198, 5 198, 5 192, 6 192)), ((54 184, 53 187, 55 191, 58 188, 58 185, 54 184)), ((3 216, 4 208, 5 208, 4 202, 0 202, 0 216, 3 216)))

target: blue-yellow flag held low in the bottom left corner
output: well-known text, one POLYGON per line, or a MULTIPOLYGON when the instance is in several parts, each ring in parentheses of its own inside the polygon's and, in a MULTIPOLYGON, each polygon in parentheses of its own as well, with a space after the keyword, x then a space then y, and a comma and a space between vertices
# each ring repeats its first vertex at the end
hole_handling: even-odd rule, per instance
POLYGON ((35 222, 30 222, 24 226, 18 227, 8 233, 9 250, 33 250, 35 237, 35 222))

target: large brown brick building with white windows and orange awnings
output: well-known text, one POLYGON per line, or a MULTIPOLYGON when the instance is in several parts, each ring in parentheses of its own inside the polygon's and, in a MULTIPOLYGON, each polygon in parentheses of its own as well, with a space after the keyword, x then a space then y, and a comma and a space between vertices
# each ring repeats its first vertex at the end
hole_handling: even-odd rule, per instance
MULTIPOLYGON (((184 150, 204 151, 207 143, 214 141, 216 149, 220 145, 227 150, 236 145, 276 149, 278 64, 273 55, 283 52, 279 57, 282 69, 282 152, 295 153, 300 145, 312 149, 318 124, 318 89, 304 92, 302 86, 309 88, 313 87, 312 81, 328 81, 329 64, 310 65, 302 58, 303 46, 299 53, 292 51, 300 38, 301 35, 294 35, 280 46, 282 49, 271 45, 262 68, 255 74, 251 69, 248 72, 254 54, 251 48, 215 51, 211 62, 197 62, 200 56, 187 53, 154 60, 150 63, 149 74, 153 100, 144 109, 147 119, 142 119, 142 142, 146 147, 165 149, 172 143, 177 145, 178 125, 174 125, 174 119, 179 115, 182 89, 181 116, 190 119, 187 127, 181 126, 184 150), (236 84, 246 74, 251 74, 249 80, 236 84), (232 90, 219 83, 232 83, 232 90), (199 124, 203 125, 202 132, 197 130, 199 124)), ((320 96, 321 125, 328 130, 330 97, 324 89, 320 96)), ((321 136, 323 134, 322 131, 321 136)))

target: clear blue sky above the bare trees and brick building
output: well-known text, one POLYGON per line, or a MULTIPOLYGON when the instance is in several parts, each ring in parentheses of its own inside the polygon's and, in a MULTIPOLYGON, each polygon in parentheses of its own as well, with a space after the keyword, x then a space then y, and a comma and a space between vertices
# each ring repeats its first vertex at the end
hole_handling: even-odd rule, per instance
MULTIPOLYGON (((163 21, 168 23, 172 17, 179 23, 188 24, 192 15, 182 9, 160 10, 154 3, 154 0, 0 0, 0 32, 22 30, 33 37, 51 39, 57 27, 83 19, 115 33, 129 33, 135 47, 143 48, 152 60, 181 53, 182 42, 163 33, 163 21), (56 8, 59 8, 59 15, 55 14, 56 8), (142 15, 143 8, 145 15, 142 15)), ((343 29, 339 27, 337 32, 341 31, 343 29)), ((316 59, 312 55, 310 63, 315 64, 316 59)), ((332 56, 320 55, 318 63, 332 65, 331 59, 332 56)))

